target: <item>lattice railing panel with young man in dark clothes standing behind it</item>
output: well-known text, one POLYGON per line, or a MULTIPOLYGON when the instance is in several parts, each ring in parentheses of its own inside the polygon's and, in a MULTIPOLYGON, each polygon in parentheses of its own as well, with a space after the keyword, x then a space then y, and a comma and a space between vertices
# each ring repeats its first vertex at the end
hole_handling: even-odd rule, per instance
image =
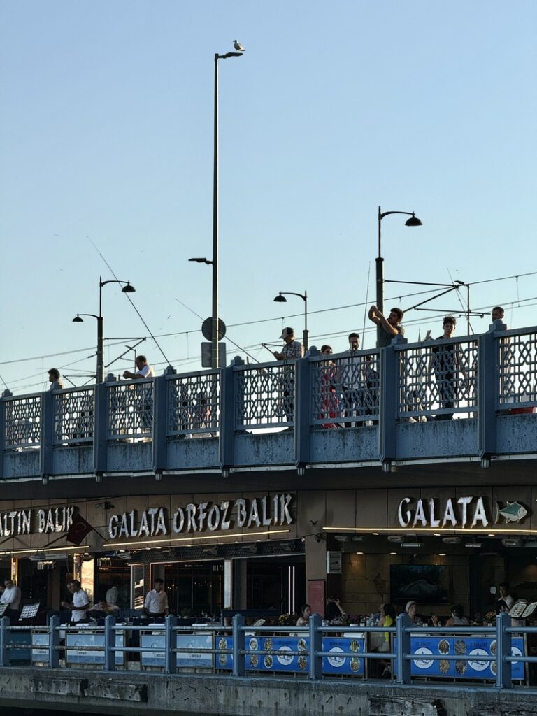
POLYGON ((449 420, 477 408, 478 342, 427 341, 399 353, 398 417, 449 420))

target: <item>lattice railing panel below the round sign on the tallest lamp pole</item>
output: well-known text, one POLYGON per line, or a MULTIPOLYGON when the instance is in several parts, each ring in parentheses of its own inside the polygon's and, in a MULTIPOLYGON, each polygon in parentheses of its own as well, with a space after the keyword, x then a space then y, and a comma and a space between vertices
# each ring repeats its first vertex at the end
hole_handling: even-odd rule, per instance
POLYGON ((168 379, 167 435, 216 433, 219 420, 218 372, 174 375, 168 379))

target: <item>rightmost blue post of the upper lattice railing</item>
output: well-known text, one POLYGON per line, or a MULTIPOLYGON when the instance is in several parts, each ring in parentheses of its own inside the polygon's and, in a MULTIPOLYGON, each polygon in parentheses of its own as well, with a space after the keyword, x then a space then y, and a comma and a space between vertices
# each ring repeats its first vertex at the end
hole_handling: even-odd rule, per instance
POLYGON ((498 402, 498 362, 494 332, 505 330, 494 321, 486 333, 478 336, 478 455, 481 460, 496 452, 496 405, 498 402))

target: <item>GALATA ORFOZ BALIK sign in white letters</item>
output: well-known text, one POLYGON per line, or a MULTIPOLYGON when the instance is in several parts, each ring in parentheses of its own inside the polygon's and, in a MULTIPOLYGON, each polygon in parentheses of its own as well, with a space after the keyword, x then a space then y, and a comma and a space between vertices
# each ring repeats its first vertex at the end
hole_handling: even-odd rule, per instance
POLYGON ((184 532, 231 530, 242 527, 270 527, 290 525, 289 511, 293 495, 264 495, 262 498, 238 498, 221 503, 188 503, 178 507, 171 518, 163 507, 152 507, 140 515, 136 510, 110 516, 108 536, 156 537, 184 532))

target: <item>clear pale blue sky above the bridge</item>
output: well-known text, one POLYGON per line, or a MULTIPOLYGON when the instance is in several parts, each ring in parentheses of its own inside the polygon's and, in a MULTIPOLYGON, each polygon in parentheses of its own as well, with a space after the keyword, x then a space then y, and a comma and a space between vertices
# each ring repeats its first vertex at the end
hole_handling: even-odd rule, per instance
MULTIPOLYGON (((385 308, 470 283, 537 323, 537 4, 534 0, 0 0, 0 376, 15 394, 105 372, 137 347, 160 374, 201 369, 211 316, 214 55, 218 63, 219 313, 249 360, 281 345, 374 345, 377 212, 385 308), (113 273, 112 273, 113 272, 113 273), (518 278, 517 278, 518 277, 518 278), (493 279, 503 279, 495 281, 493 279), (156 337, 158 345, 150 337, 156 337)), ((442 333, 466 289, 405 314, 442 333)), ((461 318, 457 334, 467 333, 461 318)), ((227 343, 228 361, 245 357, 227 343)))

